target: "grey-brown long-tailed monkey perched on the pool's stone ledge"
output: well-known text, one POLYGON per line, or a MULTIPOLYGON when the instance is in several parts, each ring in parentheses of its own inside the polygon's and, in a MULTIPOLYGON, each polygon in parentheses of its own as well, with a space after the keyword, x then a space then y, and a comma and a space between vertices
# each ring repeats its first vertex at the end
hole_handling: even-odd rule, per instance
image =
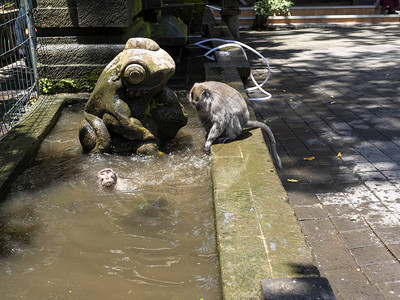
POLYGON ((250 113, 246 101, 236 89, 217 81, 195 83, 190 90, 189 101, 197 110, 200 121, 206 129, 207 153, 210 153, 214 141, 234 140, 244 127, 258 127, 267 132, 271 140, 272 155, 282 169, 271 128, 263 122, 249 120, 250 113))

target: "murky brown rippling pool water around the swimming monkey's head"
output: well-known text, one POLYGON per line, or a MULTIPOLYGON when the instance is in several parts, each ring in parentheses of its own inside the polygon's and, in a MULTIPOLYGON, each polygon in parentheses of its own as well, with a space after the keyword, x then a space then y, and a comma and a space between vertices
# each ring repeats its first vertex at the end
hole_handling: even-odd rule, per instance
POLYGON ((209 157, 189 124, 158 158, 83 155, 64 109, 0 209, 1 299, 218 299, 209 157), (118 174, 115 189, 96 173, 118 174))

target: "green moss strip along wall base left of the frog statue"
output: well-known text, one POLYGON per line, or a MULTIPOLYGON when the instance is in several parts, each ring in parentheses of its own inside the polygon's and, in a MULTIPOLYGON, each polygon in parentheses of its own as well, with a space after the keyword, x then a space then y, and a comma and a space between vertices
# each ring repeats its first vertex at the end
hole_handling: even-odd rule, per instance
POLYGON ((41 94, 91 92, 102 71, 102 68, 95 68, 85 78, 42 78, 39 80, 40 92, 41 94))

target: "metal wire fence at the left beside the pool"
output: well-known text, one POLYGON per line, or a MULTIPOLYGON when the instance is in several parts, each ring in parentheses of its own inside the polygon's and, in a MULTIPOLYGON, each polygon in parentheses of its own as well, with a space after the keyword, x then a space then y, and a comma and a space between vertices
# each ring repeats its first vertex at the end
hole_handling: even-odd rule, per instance
POLYGON ((0 139, 38 98, 31 0, 0 0, 0 139))

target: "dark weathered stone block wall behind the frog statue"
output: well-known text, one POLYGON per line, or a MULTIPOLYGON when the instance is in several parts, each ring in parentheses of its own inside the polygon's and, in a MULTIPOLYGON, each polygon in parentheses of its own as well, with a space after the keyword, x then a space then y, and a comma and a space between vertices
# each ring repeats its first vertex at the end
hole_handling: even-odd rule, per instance
POLYGON ((37 0, 40 78, 98 74, 130 37, 148 37, 174 57, 201 31, 205 0, 37 0))

